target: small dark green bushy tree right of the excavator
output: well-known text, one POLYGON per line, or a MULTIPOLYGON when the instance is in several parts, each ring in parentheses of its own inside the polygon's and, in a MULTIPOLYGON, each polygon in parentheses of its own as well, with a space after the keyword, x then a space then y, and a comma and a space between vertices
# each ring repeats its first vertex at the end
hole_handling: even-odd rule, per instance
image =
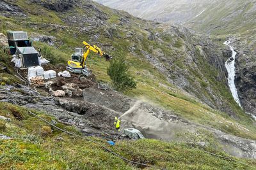
POLYGON ((108 75, 116 90, 125 91, 136 88, 134 76, 129 72, 129 66, 125 57, 117 57, 110 62, 108 75))

